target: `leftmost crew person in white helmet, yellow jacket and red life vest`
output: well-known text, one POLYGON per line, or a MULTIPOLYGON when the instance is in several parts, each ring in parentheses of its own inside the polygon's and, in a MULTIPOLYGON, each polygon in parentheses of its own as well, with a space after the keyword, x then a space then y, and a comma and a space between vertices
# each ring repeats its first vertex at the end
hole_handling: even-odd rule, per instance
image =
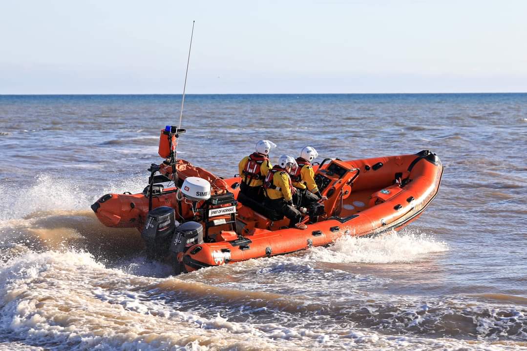
POLYGON ((243 195, 261 202, 264 199, 262 185, 264 179, 271 169, 269 152, 276 144, 268 140, 260 140, 256 143, 256 152, 243 157, 238 164, 238 172, 241 177, 240 192, 243 195))

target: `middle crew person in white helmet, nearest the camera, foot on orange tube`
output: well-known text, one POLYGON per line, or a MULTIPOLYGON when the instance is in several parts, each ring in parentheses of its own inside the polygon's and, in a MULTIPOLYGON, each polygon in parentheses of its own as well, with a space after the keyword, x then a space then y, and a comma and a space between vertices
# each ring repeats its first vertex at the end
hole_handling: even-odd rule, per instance
POLYGON ((264 182, 265 205, 276 210, 290 219, 289 227, 305 229, 307 226, 300 223, 302 214, 293 206, 292 193, 295 192, 291 184, 289 173, 296 166, 295 159, 289 155, 282 155, 278 159, 278 165, 272 167, 264 182))

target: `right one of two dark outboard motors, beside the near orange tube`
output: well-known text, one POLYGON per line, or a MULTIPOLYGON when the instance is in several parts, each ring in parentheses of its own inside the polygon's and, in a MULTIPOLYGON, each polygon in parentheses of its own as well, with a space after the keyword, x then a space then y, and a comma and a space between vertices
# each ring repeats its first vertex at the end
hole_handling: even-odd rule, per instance
POLYGON ((175 274, 182 272, 182 254, 196 244, 203 244, 203 226, 200 223, 185 222, 175 228, 170 244, 170 260, 173 263, 175 274))

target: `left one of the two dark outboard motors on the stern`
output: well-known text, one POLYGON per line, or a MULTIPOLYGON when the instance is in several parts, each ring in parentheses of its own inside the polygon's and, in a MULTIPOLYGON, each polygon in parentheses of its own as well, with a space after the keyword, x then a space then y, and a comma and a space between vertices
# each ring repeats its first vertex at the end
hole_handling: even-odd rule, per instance
POLYGON ((148 213, 141 237, 147 245, 147 257, 160 259, 169 252, 170 239, 179 226, 172 207, 161 206, 148 213))

